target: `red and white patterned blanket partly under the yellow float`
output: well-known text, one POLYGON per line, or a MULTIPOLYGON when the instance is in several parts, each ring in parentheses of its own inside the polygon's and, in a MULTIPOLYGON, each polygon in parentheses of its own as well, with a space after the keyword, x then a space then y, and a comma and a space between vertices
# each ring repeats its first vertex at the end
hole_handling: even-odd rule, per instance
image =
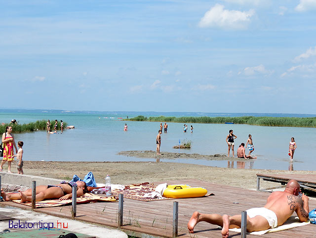
MULTIPOLYGON (((134 199, 139 201, 158 201, 158 200, 170 200, 175 198, 165 198, 160 196, 159 192, 156 191, 157 186, 153 183, 137 183, 126 185, 123 190, 113 189, 112 195, 118 196, 123 194, 124 198, 134 199)), ((205 196, 211 196, 214 194, 206 194, 205 196)))

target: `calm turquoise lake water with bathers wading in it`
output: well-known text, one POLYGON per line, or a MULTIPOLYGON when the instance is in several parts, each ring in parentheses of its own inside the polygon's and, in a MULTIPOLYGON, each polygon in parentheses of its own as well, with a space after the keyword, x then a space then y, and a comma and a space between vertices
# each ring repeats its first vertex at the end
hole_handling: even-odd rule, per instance
MULTIPOLYGON (((15 140, 24 141, 24 160, 44 161, 156 161, 155 159, 139 159, 117 155, 125 150, 156 150, 156 136, 159 122, 126 122, 118 117, 126 118, 137 115, 175 115, 175 116, 219 116, 215 113, 155 113, 155 112, 60 112, 40 110, 0 110, 0 122, 16 119, 19 123, 50 119, 63 120, 68 125, 74 125, 75 130, 65 130, 63 134, 47 134, 45 131, 14 134, 15 140), (132 114, 131 114, 132 113, 132 114), (101 116, 99 118, 99 116, 101 116), (108 117, 108 118, 106 118, 108 117), (113 117, 113 118, 110 118, 113 117), (123 131, 124 124, 128 132, 123 131)), ((252 114, 228 114, 222 116, 242 116, 252 114)), ((257 114, 256 114, 257 115, 257 114)), ((268 114, 260 114, 268 115, 268 114)), ((271 116, 271 114, 269 114, 271 116)), ((282 114, 284 116, 284 114, 282 114)), ((272 116, 282 116, 273 114, 272 116)), ((286 116, 296 116, 287 114, 286 116)), ((299 115, 315 116, 315 115, 299 115)), ((162 122, 164 123, 164 122, 162 122)), ((225 141, 228 131, 234 130, 235 155, 241 142, 246 143, 248 134, 252 135, 258 158, 252 162, 232 163, 228 161, 205 161, 194 159, 164 160, 165 162, 190 163, 217 167, 271 169, 271 170, 316 170, 314 163, 316 143, 314 135, 316 128, 292 127, 260 127, 249 125, 227 124, 188 124, 188 133, 183 133, 183 123, 168 123, 168 133, 161 135, 161 152, 178 152, 172 149, 179 139, 192 140, 190 150, 184 153, 227 154, 225 141), (190 133, 193 125, 194 133, 190 133), (297 150, 294 162, 289 163, 288 145, 291 137, 295 137, 297 150)), ((246 149, 246 152, 248 150, 246 149)))

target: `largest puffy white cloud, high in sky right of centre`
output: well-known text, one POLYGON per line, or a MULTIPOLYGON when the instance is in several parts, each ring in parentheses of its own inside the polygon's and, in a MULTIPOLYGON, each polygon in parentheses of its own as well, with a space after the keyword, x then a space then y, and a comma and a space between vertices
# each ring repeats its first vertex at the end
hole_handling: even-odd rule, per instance
POLYGON ((251 16, 255 13, 249 11, 224 10, 221 4, 215 4, 198 23, 199 27, 219 27, 227 29, 246 29, 251 16))

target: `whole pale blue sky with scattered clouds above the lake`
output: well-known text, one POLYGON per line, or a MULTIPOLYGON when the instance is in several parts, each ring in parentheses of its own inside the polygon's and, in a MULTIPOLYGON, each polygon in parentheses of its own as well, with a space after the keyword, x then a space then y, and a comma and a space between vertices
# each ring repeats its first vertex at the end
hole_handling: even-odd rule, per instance
POLYGON ((315 114, 316 0, 0 5, 1 107, 315 114))

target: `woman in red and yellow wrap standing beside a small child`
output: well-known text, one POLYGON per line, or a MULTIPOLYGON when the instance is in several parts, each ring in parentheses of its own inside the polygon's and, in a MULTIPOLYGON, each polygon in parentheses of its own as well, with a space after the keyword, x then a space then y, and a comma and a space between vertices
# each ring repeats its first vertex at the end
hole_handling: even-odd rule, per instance
POLYGON ((16 148, 16 144, 14 141, 14 136, 12 133, 12 127, 8 126, 5 128, 5 133, 2 134, 2 143, 3 143, 3 159, 0 165, 0 171, 3 170, 3 165, 5 162, 8 162, 8 173, 11 172, 11 163, 14 161, 14 151, 13 146, 15 148, 16 153, 18 153, 18 149, 16 148))

